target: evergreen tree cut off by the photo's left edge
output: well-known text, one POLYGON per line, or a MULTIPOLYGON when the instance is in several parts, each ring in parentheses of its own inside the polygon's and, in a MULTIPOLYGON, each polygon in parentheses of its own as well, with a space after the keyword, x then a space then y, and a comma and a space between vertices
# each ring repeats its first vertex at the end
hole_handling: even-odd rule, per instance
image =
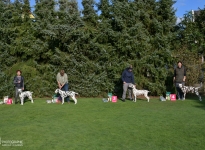
MULTIPOLYGON (((16 0, 17 2, 17 0, 16 0)), ((11 66, 17 61, 17 57, 12 55, 12 43, 18 36, 16 25, 21 23, 19 12, 10 1, 0 1, 0 95, 7 94, 13 96, 13 77, 10 75, 11 66)))

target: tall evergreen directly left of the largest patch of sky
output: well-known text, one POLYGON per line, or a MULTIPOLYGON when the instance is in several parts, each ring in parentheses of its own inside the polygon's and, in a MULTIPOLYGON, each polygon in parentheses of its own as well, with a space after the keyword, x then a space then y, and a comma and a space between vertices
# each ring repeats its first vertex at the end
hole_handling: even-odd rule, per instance
POLYGON ((148 65, 146 65, 147 74, 149 74, 149 89, 156 89, 158 94, 160 94, 160 91, 165 92, 165 90, 168 90, 166 89, 165 81, 169 74, 169 79, 166 83, 167 86, 172 86, 173 74, 168 71, 168 68, 171 67, 171 71, 173 71, 171 42, 175 36, 176 17, 173 9, 174 3, 173 0, 157 1, 155 6, 151 8, 151 24, 147 27, 152 45, 152 50, 149 53, 150 57, 147 60, 148 65), (156 88, 154 89, 154 87, 156 88))

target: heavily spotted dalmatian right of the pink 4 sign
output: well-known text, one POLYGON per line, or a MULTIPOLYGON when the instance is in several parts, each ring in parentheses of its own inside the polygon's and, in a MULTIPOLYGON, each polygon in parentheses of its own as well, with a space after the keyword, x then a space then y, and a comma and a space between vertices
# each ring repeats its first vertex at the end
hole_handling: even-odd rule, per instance
POLYGON ((195 93, 199 97, 199 100, 202 101, 201 96, 199 95, 199 88, 201 88, 201 87, 202 87, 202 83, 201 83, 200 87, 183 86, 182 84, 179 84, 179 88, 184 93, 183 100, 185 100, 186 93, 191 92, 191 93, 195 93))

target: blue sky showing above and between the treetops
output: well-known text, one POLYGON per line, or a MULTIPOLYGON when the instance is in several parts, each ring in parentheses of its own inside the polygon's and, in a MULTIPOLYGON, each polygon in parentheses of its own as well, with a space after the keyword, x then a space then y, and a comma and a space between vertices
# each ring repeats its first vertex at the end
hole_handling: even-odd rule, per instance
MULTIPOLYGON (((78 6, 82 9, 82 0, 77 0, 78 6)), ((99 0, 96 0, 98 2, 99 0)), ((174 8, 177 9, 176 16, 183 17, 185 13, 191 10, 198 10, 198 8, 204 9, 205 0, 176 0, 174 8)), ((35 0, 30 0, 31 6, 35 5, 35 0)))

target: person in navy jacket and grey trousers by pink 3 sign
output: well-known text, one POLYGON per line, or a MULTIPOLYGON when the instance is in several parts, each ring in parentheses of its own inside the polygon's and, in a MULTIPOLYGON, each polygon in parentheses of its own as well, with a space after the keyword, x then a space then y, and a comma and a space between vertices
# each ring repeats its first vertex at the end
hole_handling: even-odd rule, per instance
POLYGON ((129 98, 132 99, 132 90, 129 88, 129 84, 135 84, 134 74, 132 72, 132 65, 126 68, 122 73, 122 82, 123 82, 123 94, 122 94, 122 101, 125 102, 126 93, 128 90, 129 98))

